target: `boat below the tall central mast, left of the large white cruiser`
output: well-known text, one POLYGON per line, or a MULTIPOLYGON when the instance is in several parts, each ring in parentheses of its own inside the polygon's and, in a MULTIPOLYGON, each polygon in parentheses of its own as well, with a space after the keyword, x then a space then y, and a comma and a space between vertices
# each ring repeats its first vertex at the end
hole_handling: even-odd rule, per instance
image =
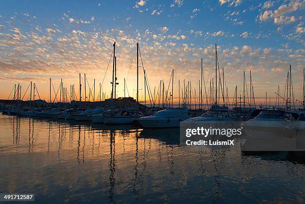
POLYGON ((116 124, 132 124, 138 119, 137 111, 121 110, 116 114, 110 116, 104 116, 104 124, 116 125, 116 124))

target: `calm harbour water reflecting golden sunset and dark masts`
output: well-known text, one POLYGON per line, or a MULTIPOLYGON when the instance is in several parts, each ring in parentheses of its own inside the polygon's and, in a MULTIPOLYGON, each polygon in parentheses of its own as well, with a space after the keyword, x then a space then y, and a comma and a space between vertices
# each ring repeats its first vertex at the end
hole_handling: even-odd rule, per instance
POLYGON ((40 203, 305 203, 288 152, 179 145, 179 130, 0 115, 0 193, 40 203))

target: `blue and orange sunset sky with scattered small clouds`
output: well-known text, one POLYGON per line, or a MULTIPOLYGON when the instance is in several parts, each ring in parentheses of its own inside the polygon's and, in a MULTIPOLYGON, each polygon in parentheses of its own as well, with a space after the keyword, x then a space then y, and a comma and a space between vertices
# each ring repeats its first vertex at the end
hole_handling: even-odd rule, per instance
MULTIPOLYGON (((238 95, 242 92, 243 72, 249 82, 250 70, 257 98, 264 98, 266 92, 276 97, 278 85, 284 96, 291 64, 295 97, 301 100, 304 13, 305 0, 2 0, 0 98, 7 99, 18 83, 23 95, 32 81, 40 98, 48 101, 49 78, 55 92, 62 79, 68 92, 74 84, 79 94, 79 73, 83 86, 86 73, 87 88, 93 87, 95 79, 96 98, 99 83, 110 97, 114 42, 117 96, 124 96, 125 78, 126 95, 135 98, 139 42, 152 93, 154 87, 158 92, 160 80, 167 89, 172 69, 174 98, 178 97, 178 79, 180 85, 183 80, 191 81, 198 93, 201 58, 208 89, 217 44, 229 96, 234 95, 236 85, 238 95)), ((141 63, 141 99, 143 67, 141 63)))

